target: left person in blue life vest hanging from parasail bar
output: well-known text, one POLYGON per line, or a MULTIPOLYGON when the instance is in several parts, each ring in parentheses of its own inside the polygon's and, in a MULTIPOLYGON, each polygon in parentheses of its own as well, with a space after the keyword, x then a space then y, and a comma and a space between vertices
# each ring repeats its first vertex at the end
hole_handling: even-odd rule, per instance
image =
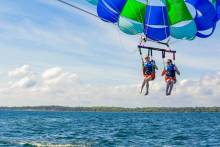
POLYGON ((148 95, 149 82, 155 79, 156 70, 158 70, 158 67, 157 67, 155 61, 151 60, 149 56, 145 56, 144 60, 143 60, 143 58, 141 58, 141 59, 142 59, 144 81, 142 82, 140 93, 142 93, 143 88, 146 85, 145 95, 148 95))

